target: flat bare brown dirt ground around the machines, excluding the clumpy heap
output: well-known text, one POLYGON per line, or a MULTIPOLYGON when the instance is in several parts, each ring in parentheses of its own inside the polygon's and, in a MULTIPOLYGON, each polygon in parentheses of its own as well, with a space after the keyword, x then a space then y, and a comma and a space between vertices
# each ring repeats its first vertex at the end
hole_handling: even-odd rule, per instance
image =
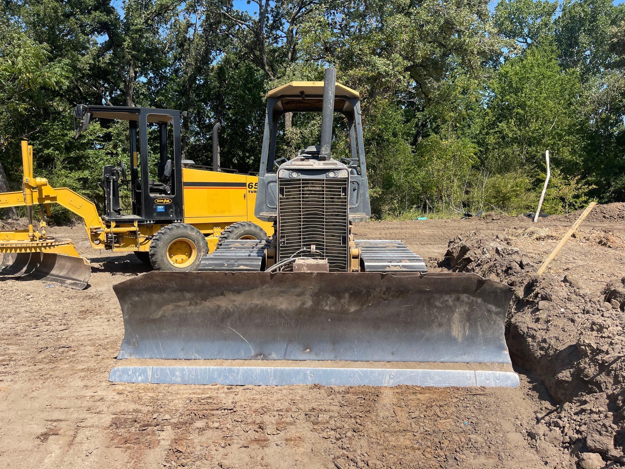
MULTIPOLYGON (((454 236, 508 236, 537 268, 569 224, 487 216, 366 222, 354 231, 402 239, 434 270, 444 269, 454 236)), ((537 427, 558 403, 521 368, 517 389, 109 383, 123 336, 111 286, 148 269, 133 254, 91 250, 80 226, 50 231, 91 260, 91 285, 0 280, 2 466, 566 468, 583 451, 537 427)), ((601 295, 622 273, 624 237, 622 219, 584 223, 549 274, 575 276, 601 295)), ((592 460, 587 466, 599 467, 592 460)))

